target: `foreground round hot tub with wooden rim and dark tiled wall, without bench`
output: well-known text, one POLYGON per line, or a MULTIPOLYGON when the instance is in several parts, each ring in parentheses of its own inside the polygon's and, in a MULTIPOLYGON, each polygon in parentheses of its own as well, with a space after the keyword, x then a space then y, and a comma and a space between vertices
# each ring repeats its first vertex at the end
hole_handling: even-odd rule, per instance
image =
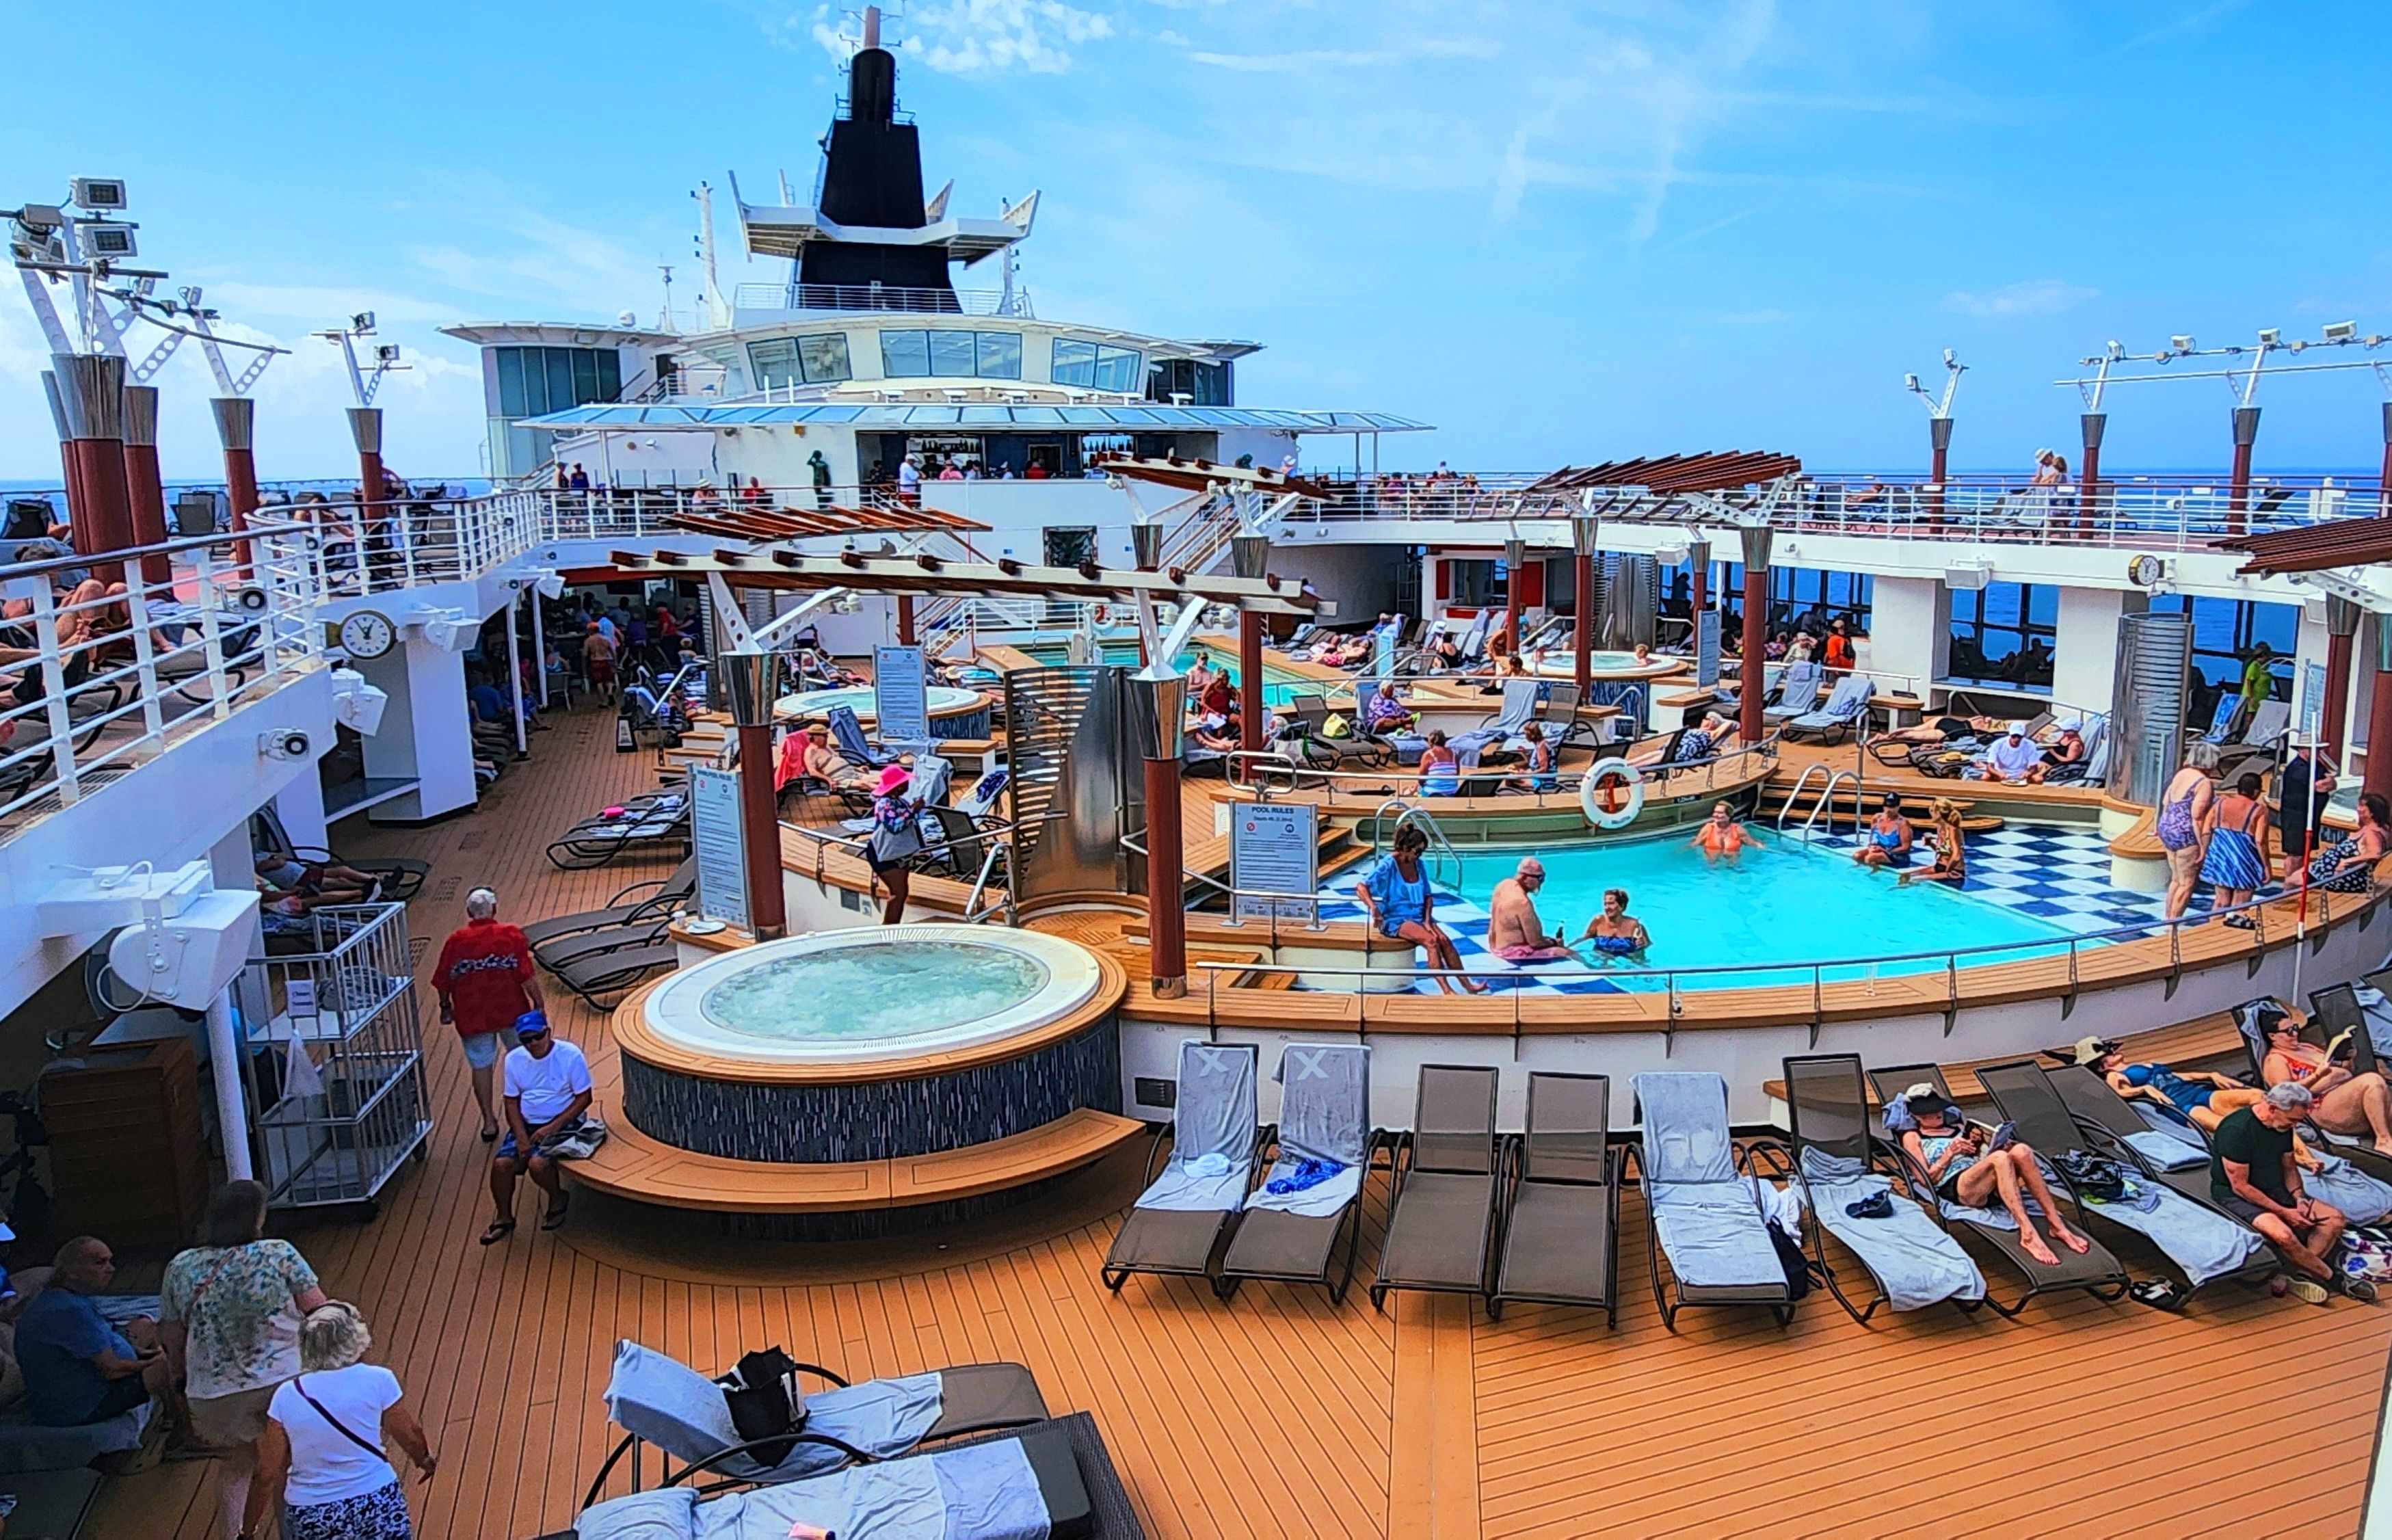
POLYGON ((997 925, 818 930, 722 952, 615 1009, 622 1110, 770 1162, 930 1155, 1119 1112, 1122 964, 997 925))

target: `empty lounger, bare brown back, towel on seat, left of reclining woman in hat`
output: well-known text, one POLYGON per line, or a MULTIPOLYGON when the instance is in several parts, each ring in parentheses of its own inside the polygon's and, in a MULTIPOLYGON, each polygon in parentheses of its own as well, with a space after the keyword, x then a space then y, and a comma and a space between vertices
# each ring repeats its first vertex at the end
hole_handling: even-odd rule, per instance
POLYGON ((1899 1177, 1875 1169, 1880 1155, 1868 1138, 1868 1090, 1861 1083, 1859 1055, 1808 1055, 1784 1062, 1787 1126, 1794 1157, 1787 1162, 1811 1208, 1811 1267, 1818 1270, 1835 1303, 1868 1322, 1878 1306, 1923 1310, 1952 1301, 1961 1313, 1985 1303, 1985 1275, 1976 1270, 1959 1241, 1926 1208, 1902 1193, 1899 1177), (1854 1215, 1854 1205, 1887 1200, 1887 1212, 1854 1215), (1868 1308, 1854 1306, 1827 1263, 1832 1234, 1859 1258, 1878 1294, 1868 1308))

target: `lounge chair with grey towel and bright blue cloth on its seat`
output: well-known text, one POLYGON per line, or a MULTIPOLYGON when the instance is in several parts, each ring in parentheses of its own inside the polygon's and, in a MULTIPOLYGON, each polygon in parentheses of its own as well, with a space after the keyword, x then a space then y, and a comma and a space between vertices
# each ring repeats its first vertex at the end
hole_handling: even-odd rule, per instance
POLYGON ((1342 1303, 1361 1253, 1361 1188, 1387 1136, 1371 1126, 1371 1050, 1356 1043, 1289 1043, 1280 1052, 1280 1122, 1263 1129, 1270 1169, 1220 1258, 1222 1298, 1249 1279, 1320 1284, 1342 1303), (1335 1172, 1296 1188, 1335 1162, 1335 1172), (1285 1184, 1282 1191, 1273 1191, 1285 1184), (1337 1239, 1344 1267, 1337 1270, 1337 1239), (1332 1270, 1335 1277, 1332 1277, 1332 1270))

